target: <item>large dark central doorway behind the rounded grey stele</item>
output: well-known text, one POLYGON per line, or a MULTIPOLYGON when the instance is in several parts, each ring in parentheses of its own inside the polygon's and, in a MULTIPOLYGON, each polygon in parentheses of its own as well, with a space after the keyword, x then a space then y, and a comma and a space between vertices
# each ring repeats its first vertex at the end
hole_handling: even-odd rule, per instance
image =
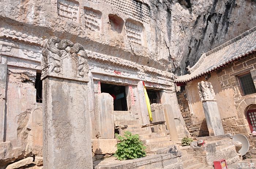
POLYGON ((114 98, 114 111, 127 111, 125 86, 101 83, 101 93, 109 93, 114 98))

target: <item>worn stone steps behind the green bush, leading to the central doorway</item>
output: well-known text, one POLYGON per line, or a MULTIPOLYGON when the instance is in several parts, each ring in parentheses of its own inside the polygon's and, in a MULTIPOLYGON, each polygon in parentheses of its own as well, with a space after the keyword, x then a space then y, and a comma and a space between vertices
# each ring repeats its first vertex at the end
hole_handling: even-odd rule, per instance
POLYGON ((125 131, 131 131, 132 134, 139 134, 140 139, 147 147, 147 153, 155 153, 158 149, 169 147, 174 142, 170 141, 169 135, 166 132, 154 132, 152 133, 151 127, 141 127, 137 121, 118 121, 117 125, 126 125, 126 128, 119 130, 119 134, 123 135, 125 131))

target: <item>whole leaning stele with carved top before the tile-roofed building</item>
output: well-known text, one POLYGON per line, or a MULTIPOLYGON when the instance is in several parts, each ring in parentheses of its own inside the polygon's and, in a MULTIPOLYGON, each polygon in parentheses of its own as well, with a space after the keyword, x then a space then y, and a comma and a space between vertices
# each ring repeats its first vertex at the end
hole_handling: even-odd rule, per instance
POLYGON ((224 134, 221 116, 211 83, 199 82, 198 91, 201 102, 203 102, 204 115, 210 136, 224 134))

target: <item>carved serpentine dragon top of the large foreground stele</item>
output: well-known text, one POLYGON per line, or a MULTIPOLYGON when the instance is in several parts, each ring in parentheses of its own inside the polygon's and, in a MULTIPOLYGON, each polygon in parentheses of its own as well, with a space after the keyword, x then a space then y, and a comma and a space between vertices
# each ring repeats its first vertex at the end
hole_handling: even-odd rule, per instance
POLYGON ((53 36, 44 42, 42 76, 89 82, 87 54, 79 43, 53 36))

